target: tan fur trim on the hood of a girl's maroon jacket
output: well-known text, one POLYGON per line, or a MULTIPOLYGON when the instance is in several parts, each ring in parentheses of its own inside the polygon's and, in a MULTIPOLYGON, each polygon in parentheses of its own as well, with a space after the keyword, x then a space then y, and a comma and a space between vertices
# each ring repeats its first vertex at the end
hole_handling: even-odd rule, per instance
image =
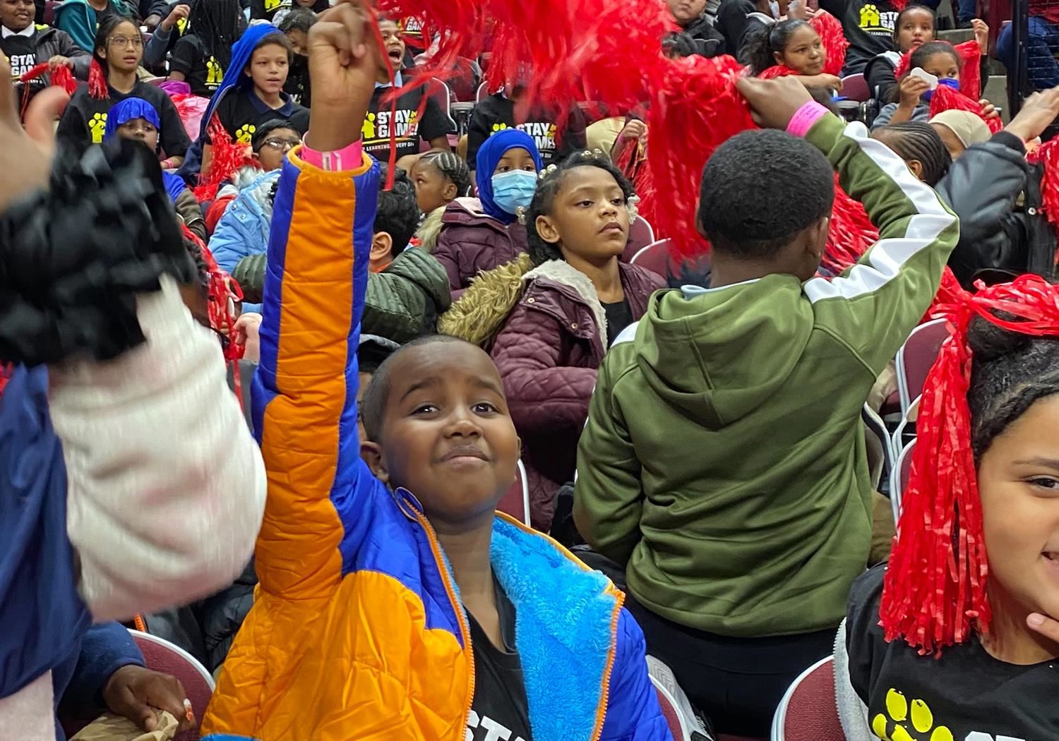
POLYGON ((437 320, 437 331, 487 347, 522 297, 522 277, 531 268, 530 255, 522 253, 510 263, 479 273, 460 301, 437 320))

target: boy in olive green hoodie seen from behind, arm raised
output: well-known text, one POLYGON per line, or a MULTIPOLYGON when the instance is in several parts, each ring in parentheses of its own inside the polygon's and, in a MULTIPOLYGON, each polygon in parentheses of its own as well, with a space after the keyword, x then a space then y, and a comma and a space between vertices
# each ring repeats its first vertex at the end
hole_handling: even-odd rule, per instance
MULTIPOLYGON (((782 126, 809 94, 777 83, 740 89, 758 113, 786 96, 782 126)), ((768 705, 827 653, 870 545, 860 408, 927 310, 957 234, 933 191, 861 124, 803 109, 816 110, 806 141, 749 132, 711 158, 699 220, 712 288, 656 294, 614 343, 578 455, 578 529, 628 564, 649 649, 725 733, 767 733, 768 705), (821 151, 882 235, 831 282, 812 277, 833 198, 821 151), (665 647, 674 623, 683 632, 665 647), (684 653, 688 634, 702 641, 698 658, 684 653), (767 650, 746 702, 729 687, 711 707, 725 682, 703 665, 740 673, 728 662, 754 647, 767 650)))

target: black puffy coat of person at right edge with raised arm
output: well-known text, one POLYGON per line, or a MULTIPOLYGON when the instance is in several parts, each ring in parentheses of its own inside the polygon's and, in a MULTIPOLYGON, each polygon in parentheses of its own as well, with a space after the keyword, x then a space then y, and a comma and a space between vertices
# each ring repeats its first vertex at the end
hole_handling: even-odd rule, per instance
POLYGON ((1040 171, 1026 163, 1022 140, 1000 131, 972 144, 934 188, 959 217, 949 267, 962 285, 1026 272, 1052 277, 1055 232, 1040 214, 1040 171))

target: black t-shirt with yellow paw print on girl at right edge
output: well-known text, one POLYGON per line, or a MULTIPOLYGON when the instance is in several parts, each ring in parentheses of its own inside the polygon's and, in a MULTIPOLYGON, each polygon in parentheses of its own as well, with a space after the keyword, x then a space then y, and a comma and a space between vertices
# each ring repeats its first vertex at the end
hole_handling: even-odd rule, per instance
POLYGON ((846 621, 849 679, 876 736, 1059 739, 1059 661, 1006 664, 976 637, 945 649, 940 658, 920 656, 902 639, 887 644, 878 625, 884 570, 876 566, 854 582, 846 621))

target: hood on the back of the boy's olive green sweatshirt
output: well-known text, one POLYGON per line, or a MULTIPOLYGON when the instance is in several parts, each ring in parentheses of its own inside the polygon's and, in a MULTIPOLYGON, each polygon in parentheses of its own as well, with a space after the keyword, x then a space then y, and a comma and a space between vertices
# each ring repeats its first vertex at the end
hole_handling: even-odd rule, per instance
POLYGON ((811 313, 793 275, 660 291, 640 322, 636 362, 666 403, 720 429, 787 382, 809 342, 811 313))

